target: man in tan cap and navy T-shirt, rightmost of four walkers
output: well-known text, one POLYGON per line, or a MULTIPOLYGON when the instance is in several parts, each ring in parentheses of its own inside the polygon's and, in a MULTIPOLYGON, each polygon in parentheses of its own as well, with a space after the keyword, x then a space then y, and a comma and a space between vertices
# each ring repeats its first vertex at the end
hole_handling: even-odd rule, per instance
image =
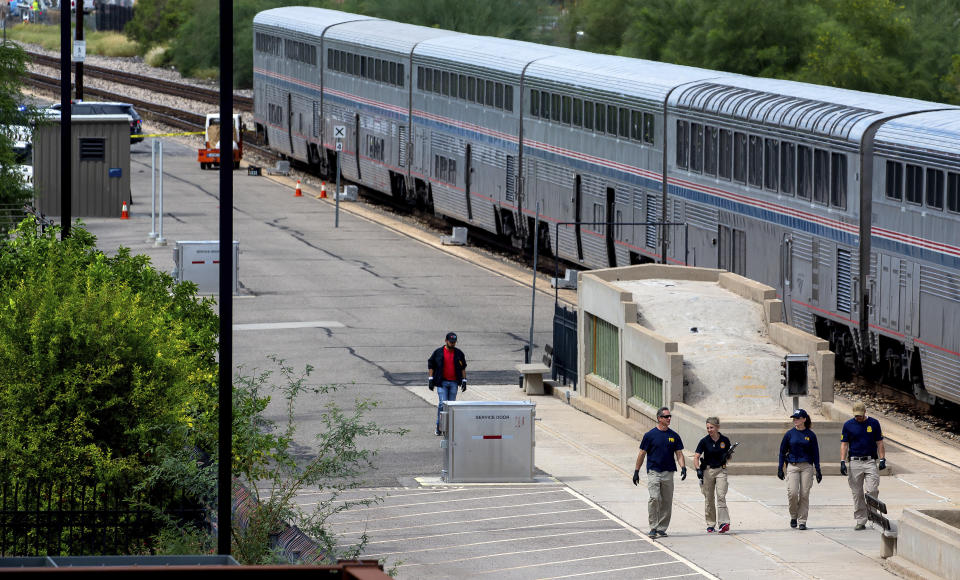
POLYGON ((853 494, 853 518, 857 521, 853 529, 867 527, 867 500, 864 494, 877 497, 880 493, 880 472, 886 468, 880 422, 867 417, 866 405, 858 401, 853 404, 853 419, 847 420, 840 432, 840 475, 847 476, 853 494), (849 474, 847 461, 850 462, 849 474))

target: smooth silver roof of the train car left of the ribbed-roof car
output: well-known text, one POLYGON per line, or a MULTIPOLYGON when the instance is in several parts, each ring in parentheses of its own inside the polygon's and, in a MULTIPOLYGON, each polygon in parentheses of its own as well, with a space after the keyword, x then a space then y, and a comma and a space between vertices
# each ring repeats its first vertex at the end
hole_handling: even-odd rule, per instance
POLYGON ((531 80, 573 85, 663 103, 678 85, 726 76, 727 73, 623 56, 571 50, 537 61, 527 69, 531 80))

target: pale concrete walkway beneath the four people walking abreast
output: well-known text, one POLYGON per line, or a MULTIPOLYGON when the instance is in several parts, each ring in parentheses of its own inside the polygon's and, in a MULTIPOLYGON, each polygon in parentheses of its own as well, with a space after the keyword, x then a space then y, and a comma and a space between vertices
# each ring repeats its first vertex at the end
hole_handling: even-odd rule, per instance
MULTIPOLYGON (((436 395, 425 387, 414 387, 411 391, 436 403, 436 395)), ((460 400, 527 398, 516 385, 471 387, 459 397, 460 400)), ((647 531, 645 480, 642 478, 639 487, 630 481, 639 442, 559 398, 532 397, 532 400, 537 404, 539 419, 537 467, 627 524, 647 531)), ((837 406, 842 407, 842 403, 837 406)), ((911 507, 955 507, 956 498, 960 497, 957 470, 903 448, 894 442, 898 435, 909 436, 911 446, 923 448, 927 444, 917 434, 890 426, 887 461, 891 475, 882 477, 880 482, 880 496, 887 503, 890 516, 897 519, 904 508, 911 507)), ((839 445, 839 442, 822 442, 823 445, 834 443, 839 445)), ((692 452, 696 441, 684 444, 687 451, 692 452)), ((692 467, 689 454, 688 462, 692 467)), ((814 485, 810 529, 804 532, 789 527, 786 487, 774 474, 731 477, 727 494, 733 520, 731 532, 707 535, 703 496, 693 469, 688 472, 686 481, 679 481, 677 476, 670 536, 658 542, 711 574, 719 578, 765 580, 840 579, 849 578, 851 574, 874 579, 897 577, 879 557, 879 530, 868 527, 854 531, 846 478, 827 476, 822 484, 814 485)))

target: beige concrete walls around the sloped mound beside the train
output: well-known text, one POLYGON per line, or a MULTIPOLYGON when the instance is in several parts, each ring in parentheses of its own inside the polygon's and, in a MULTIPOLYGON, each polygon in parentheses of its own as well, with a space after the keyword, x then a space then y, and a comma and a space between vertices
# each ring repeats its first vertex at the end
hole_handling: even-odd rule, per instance
MULTIPOLYGON (((587 341, 581 331, 579 342, 579 384, 581 400, 575 404, 581 410, 595 415, 621 430, 637 436, 656 424, 657 409, 631 396, 628 363, 643 368, 663 383, 663 400, 673 409, 673 428, 680 433, 688 454, 692 455, 697 441, 705 434, 704 423, 713 412, 695 409, 683 403, 683 353, 677 343, 637 324, 640 306, 632 302, 633 295, 617 287, 620 281, 645 279, 674 279, 715 282, 745 299, 761 306, 769 339, 788 352, 810 356, 808 376, 810 393, 819 403, 833 401, 834 355, 825 340, 797 330, 783 323, 783 303, 769 286, 748 280, 723 270, 688 268, 662 264, 643 264, 623 268, 608 268, 582 272, 578 283, 580 309, 578 323, 586 328, 588 314, 602 318, 619 329, 620 383, 606 381, 587 372, 587 341)), ((776 457, 780 440, 792 422, 784 417, 721 417, 720 430, 731 441, 740 441, 734 473, 776 473, 776 457)), ((821 465, 825 473, 839 472, 840 429, 842 420, 816 420, 813 430, 820 441, 821 465)))

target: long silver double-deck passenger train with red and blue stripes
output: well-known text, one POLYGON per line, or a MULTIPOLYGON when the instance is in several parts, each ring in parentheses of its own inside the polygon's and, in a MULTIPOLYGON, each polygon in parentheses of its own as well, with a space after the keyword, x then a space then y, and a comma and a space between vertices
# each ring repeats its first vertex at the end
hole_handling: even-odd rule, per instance
POLYGON ((851 367, 960 403, 957 107, 319 8, 253 28, 275 151, 329 171, 343 125, 346 179, 585 267, 745 275, 851 367))

